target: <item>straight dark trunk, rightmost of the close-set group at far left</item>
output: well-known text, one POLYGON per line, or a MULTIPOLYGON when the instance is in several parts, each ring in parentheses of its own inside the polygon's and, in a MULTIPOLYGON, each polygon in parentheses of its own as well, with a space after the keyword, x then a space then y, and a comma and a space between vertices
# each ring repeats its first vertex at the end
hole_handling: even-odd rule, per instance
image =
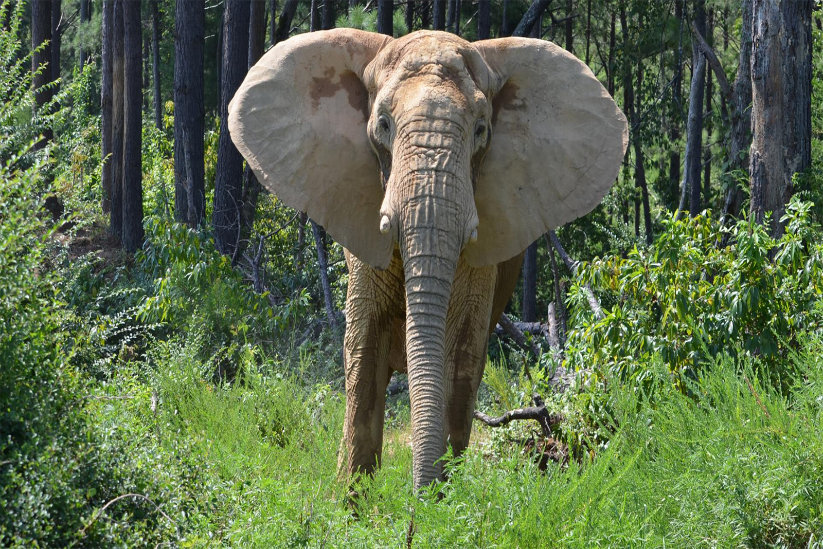
POLYGON ((123 248, 143 245, 140 2, 123 2, 123 248))

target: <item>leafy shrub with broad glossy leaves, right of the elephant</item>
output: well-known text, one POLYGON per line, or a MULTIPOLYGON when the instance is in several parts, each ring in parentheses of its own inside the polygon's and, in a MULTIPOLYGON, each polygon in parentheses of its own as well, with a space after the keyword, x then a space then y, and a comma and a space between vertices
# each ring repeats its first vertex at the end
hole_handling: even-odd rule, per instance
POLYGON ((569 364, 642 381, 659 354, 679 378, 740 349, 781 376, 798 336, 823 321, 823 246, 811 206, 793 199, 777 240, 743 219, 728 247, 718 246, 721 228, 709 215, 669 217, 653 247, 581 265, 570 292, 569 364), (586 283, 602 296, 602 320, 588 310, 586 283))

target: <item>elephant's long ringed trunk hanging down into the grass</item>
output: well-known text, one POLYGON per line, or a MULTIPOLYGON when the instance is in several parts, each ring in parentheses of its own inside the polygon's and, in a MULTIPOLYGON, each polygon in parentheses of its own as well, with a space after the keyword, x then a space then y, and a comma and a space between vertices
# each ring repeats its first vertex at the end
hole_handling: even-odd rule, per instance
POLYGON ((406 275, 413 474, 415 488, 420 488, 442 471, 446 313, 458 256, 473 228, 467 226, 477 213, 471 187, 463 188, 470 183, 453 169, 412 169, 405 179, 398 233, 406 275))

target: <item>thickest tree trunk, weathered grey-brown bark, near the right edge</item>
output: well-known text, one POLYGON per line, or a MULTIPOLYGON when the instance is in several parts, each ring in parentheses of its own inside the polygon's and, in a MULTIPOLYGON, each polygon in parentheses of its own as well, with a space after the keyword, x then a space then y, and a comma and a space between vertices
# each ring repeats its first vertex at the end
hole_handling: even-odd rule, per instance
POLYGON ((751 50, 751 214, 770 229, 811 165, 811 1, 755 0, 751 50))

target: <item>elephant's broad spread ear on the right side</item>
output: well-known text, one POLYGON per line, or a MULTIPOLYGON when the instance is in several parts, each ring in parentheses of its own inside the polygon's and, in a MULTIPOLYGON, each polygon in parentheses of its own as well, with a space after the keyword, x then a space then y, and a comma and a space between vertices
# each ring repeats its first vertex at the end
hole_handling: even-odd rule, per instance
POLYGON ((615 182, 628 127, 584 62, 556 44, 505 38, 472 45, 499 79, 475 191, 477 242, 466 247, 469 264, 481 266, 593 210, 615 182))

